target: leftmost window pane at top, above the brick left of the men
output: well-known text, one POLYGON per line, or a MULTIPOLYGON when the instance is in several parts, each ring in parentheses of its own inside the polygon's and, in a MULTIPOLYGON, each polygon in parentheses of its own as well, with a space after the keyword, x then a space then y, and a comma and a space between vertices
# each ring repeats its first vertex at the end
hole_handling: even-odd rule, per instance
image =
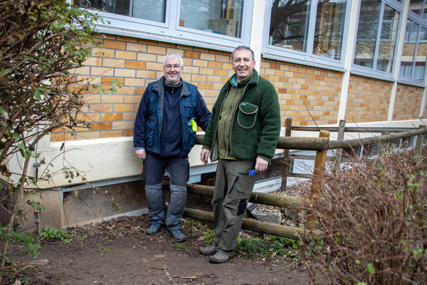
POLYGON ((164 23, 165 0, 83 0, 78 2, 80 7, 88 6, 107 13, 164 23))

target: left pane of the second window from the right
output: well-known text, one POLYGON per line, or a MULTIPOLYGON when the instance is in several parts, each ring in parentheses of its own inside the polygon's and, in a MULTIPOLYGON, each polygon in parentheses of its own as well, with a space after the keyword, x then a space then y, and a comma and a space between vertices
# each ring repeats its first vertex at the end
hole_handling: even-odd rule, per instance
POLYGON ((354 64, 358 66, 374 67, 380 9, 381 2, 378 0, 362 0, 354 52, 354 64))

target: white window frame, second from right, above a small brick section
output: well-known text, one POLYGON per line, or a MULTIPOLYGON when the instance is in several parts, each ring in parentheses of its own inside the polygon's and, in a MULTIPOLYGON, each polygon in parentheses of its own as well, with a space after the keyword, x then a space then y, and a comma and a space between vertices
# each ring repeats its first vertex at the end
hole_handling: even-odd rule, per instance
MULTIPOLYGON (((359 76, 368 76, 370 78, 377 78, 377 79, 381 79, 381 80, 386 80, 386 81, 396 81, 394 79, 394 71, 396 70, 396 68, 400 68, 400 61, 399 61, 399 66, 396 66, 396 61, 398 58, 397 55, 397 51, 398 51, 398 47, 399 47, 399 38, 400 38, 400 34, 402 32, 404 32, 404 27, 402 27, 402 23, 403 23, 403 10, 404 10, 404 6, 399 3, 398 1, 394 1, 394 0, 378 0, 381 2, 381 10, 379 13, 379 21, 378 21, 378 31, 376 33, 376 45, 375 45, 375 53, 374 53, 374 66, 372 68, 368 68, 365 66, 358 66, 356 64, 354 64, 354 53, 353 53, 353 58, 352 58, 352 70, 351 72, 353 74, 357 74, 359 76), (382 28, 382 19, 384 16, 384 7, 385 6, 390 6, 392 9, 395 9, 396 11, 399 12, 399 24, 398 24, 398 31, 397 31, 397 35, 396 35, 396 43, 394 45, 394 56, 393 56, 393 64, 391 66, 391 71, 390 73, 386 72, 386 71, 380 71, 378 69, 376 69, 376 63, 377 63, 377 59, 378 59, 378 52, 379 52, 379 43, 381 41, 381 28, 382 28)), ((362 4, 362 1, 359 1, 359 6, 357 9, 357 15, 360 14, 360 6, 362 4)), ((354 47, 356 47, 356 43, 357 43, 357 30, 359 29, 359 16, 357 17, 357 28, 354 34, 354 47)), ((354 51, 355 52, 355 51, 354 51)))

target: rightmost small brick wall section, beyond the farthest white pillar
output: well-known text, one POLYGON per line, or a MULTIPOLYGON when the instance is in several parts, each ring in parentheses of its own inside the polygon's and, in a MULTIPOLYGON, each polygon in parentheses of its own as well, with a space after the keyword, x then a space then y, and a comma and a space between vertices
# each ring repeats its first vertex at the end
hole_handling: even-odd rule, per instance
POLYGON ((398 84, 394 102, 393 120, 416 120, 419 118, 423 100, 423 88, 398 84))

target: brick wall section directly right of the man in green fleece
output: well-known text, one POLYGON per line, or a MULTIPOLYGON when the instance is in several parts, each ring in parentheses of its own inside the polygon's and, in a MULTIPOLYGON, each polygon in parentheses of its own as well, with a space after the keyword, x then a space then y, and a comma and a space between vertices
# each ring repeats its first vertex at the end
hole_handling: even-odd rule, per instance
POLYGON ((282 125, 330 125, 337 123, 342 73, 263 60, 260 74, 278 90, 282 125))

